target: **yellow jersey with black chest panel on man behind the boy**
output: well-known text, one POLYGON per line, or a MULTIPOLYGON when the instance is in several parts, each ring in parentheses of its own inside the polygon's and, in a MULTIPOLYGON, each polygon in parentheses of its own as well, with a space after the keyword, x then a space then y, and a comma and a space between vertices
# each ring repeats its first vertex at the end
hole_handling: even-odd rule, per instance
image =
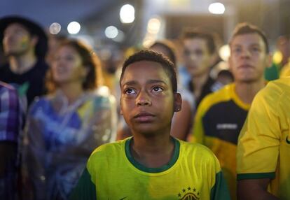
POLYGON ((232 199, 236 199, 237 138, 250 105, 235 93, 235 84, 207 95, 195 115, 192 141, 214 152, 228 182, 232 199))

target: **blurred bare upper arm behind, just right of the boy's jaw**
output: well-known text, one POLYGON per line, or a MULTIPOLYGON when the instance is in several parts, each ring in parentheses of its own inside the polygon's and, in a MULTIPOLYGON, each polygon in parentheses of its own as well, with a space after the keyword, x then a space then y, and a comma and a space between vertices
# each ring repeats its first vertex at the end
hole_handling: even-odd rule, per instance
POLYGON ((172 120, 171 135, 186 141, 188 131, 191 128, 191 105, 188 101, 182 101, 182 108, 179 112, 174 113, 172 120))

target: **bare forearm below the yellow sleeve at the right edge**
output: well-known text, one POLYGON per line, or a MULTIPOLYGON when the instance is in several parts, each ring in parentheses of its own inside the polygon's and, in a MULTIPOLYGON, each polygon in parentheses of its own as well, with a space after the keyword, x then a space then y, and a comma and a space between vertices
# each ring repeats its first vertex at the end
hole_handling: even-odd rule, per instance
POLYGON ((237 182, 238 200, 276 200, 274 195, 267 192, 270 178, 244 179, 237 182))

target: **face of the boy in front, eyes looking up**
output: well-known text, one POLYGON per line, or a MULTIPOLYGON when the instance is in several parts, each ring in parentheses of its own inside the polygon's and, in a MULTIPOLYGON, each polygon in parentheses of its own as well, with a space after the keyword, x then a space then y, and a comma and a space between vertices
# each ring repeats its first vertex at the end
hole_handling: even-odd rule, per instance
POLYGON ((172 92, 172 83, 161 64, 150 61, 130 64, 120 87, 121 114, 134 133, 170 131, 174 109, 181 108, 181 97, 172 92))

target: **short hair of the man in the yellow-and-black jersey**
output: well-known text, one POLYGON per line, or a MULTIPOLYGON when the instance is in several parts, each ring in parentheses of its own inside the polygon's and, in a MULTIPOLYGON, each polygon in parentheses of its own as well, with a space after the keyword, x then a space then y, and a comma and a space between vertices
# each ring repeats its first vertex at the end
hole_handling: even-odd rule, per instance
POLYGON ((259 36, 261 36, 263 42, 265 43, 265 48, 266 48, 265 50, 267 53, 269 52, 269 44, 268 44, 268 40, 264 32, 258 27, 256 27, 255 25, 250 24, 248 22, 237 24, 237 26, 235 27, 233 31, 233 35, 230 38, 230 44, 233 42, 233 39, 235 38, 235 36, 240 36, 244 34, 258 34, 259 36))

